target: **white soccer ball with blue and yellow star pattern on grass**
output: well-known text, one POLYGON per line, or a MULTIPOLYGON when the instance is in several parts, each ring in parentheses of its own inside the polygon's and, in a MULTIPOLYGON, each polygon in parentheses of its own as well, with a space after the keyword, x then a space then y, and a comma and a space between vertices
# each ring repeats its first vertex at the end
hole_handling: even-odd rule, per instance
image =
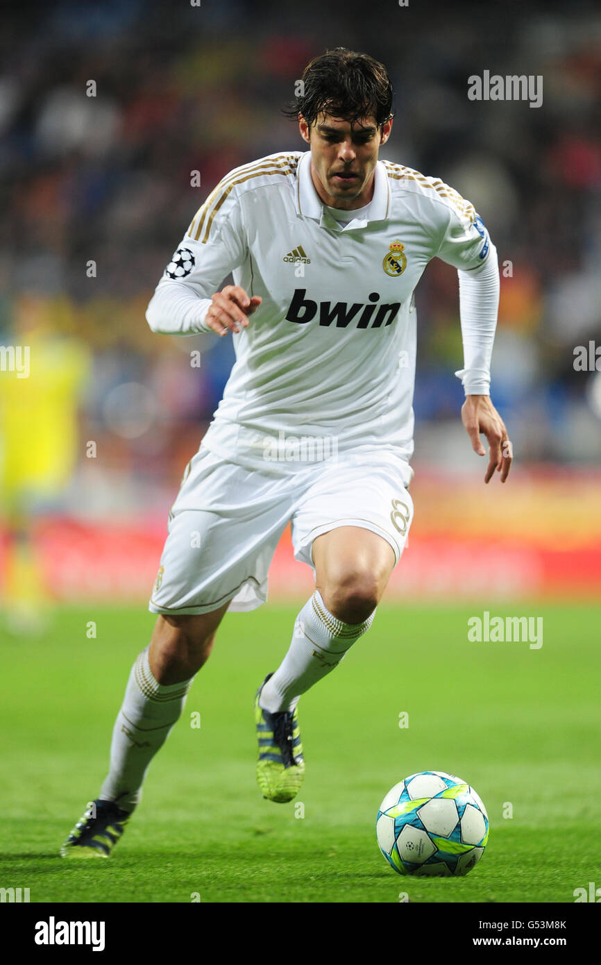
POLYGON ((478 794, 452 774, 422 771, 395 785, 375 822, 380 851, 399 874, 467 874, 488 841, 478 794))

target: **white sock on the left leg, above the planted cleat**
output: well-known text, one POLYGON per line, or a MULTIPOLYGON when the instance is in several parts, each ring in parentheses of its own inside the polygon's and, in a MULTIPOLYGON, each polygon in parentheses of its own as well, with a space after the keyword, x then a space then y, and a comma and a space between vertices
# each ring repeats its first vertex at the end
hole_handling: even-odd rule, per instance
POLYGON ((138 655, 115 721, 109 772, 100 799, 118 801, 123 811, 133 811, 142 797, 150 760, 178 720, 193 679, 163 686, 150 670, 149 648, 138 655))

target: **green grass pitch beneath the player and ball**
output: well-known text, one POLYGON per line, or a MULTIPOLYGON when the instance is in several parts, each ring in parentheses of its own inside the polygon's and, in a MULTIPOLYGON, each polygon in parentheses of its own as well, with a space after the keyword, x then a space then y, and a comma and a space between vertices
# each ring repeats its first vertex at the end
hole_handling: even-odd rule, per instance
POLYGON ((58 850, 96 797, 153 618, 144 606, 66 608, 43 638, 4 638, 0 884, 29 887, 32 902, 573 902, 599 879, 600 607, 491 606, 543 617, 531 649, 469 643, 481 602, 383 604, 303 697, 305 784, 276 805, 255 783, 252 703, 297 609, 225 618, 110 861, 67 863, 58 850), (386 791, 429 769, 458 774, 488 809, 488 847, 465 878, 397 875, 376 845, 386 791))

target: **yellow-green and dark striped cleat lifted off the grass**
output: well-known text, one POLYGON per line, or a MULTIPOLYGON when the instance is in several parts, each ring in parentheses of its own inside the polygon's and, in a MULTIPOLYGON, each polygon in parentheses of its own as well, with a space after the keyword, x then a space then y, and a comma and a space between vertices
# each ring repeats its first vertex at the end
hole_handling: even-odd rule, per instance
POLYGON ((296 709, 271 713, 259 705, 260 692, 272 674, 260 685, 255 698, 255 723, 259 739, 257 783, 263 797, 285 804, 300 790, 305 776, 305 759, 296 709))

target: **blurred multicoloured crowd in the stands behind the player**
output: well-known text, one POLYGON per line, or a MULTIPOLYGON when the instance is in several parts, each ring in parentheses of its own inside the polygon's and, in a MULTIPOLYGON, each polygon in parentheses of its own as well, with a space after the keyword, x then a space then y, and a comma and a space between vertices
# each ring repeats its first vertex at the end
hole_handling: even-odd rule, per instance
MULTIPOLYGON (((601 372, 574 368, 576 346, 601 343, 597 4, 55 0, 1 15, 0 344, 44 362, 28 379, 0 372, 5 513, 14 480, 35 483, 11 454, 15 440, 18 458, 35 449, 44 411, 62 413, 45 435, 60 465, 32 483, 34 502, 166 513, 233 353, 230 340, 153 335, 146 306, 219 179, 304 149, 281 108, 308 60, 336 45, 392 76, 382 156, 451 183, 497 245, 492 393, 519 464, 598 464, 601 372), (542 106, 469 100, 468 77, 485 69, 542 75, 542 106)), ((453 375, 456 273, 431 262, 417 304, 416 466, 456 473, 473 468, 453 375)))

